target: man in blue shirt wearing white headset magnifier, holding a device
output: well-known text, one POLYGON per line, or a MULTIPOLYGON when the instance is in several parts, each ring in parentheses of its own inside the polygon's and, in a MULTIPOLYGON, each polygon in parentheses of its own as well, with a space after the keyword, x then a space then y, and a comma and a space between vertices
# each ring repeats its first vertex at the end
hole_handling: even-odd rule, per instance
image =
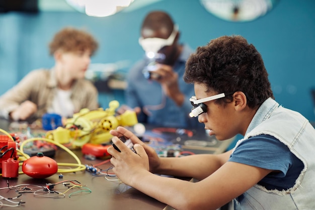
POLYGON ((119 113, 134 109, 138 121, 155 126, 202 128, 195 118, 189 117, 194 95, 192 84, 183 80, 185 63, 193 52, 180 44, 180 32, 165 12, 150 12, 141 27, 139 43, 146 56, 138 61, 128 74, 127 106, 119 113))

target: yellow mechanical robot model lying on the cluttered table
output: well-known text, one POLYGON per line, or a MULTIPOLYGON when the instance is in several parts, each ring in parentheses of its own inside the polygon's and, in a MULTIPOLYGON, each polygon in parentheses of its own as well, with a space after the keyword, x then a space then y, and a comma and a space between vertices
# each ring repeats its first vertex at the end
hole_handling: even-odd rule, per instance
POLYGON ((70 144, 73 147, 83 147, 87 143, 104 144, 111 141, 113 135, 110 130, 120 126, 133 126, 138 123, 134 111, 127 110, 121 115, 116 115, 119 107, 118 101, 111 101, 109 108, 103 110, 82 109, 67 119, 64 127, 48 131, 46 137, 60 144, 70 144))

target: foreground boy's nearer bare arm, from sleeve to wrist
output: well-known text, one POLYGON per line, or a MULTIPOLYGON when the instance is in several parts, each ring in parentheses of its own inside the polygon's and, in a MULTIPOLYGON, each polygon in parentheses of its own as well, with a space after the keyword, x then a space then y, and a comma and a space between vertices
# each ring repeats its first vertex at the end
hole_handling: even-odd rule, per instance
POLYGON ((226 162, 199 182, 157 176, 141 170, 134 177, 130 177, 132 182, 129 184, 177 210, 208 210, 217 209, 238 197, 270 172, 271 170, 254 166, 226 162))

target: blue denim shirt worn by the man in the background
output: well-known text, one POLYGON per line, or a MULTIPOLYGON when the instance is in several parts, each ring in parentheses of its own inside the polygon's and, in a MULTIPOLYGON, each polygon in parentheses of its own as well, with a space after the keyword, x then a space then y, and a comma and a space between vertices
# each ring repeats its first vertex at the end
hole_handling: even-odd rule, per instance
POLYGON ((164 127, 179 128, 202 128, 204 125, 197 118, 190 118, 189 113, 192 105, 189 98, 194 94, 193 84, 187 84, 183 80, 185 63, 192 49, 184 45, 183 51, 175 62, 173 70, 178 73, 178 84, 180 90, 185 94, 185 102, 182 106, 165 96, 161 84, 144 78, 143 68, 149 63, 147 58, 138 61, 129 71, 127 77, 127 89, 125 98, 127 105, 131 108, 140 107, 143 112, 138 116, 139 122, 144 122, 164 127))

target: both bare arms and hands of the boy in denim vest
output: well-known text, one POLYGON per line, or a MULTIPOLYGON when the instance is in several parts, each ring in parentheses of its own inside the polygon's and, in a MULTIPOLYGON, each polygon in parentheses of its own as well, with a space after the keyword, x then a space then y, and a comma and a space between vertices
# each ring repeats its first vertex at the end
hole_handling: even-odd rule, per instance
POLYGON ((177 210, 217 209, 257 184, 271 170, 228 162, 231 151, 221 155, 193 155, 182 158, 158 158, 153 149, 123 127, 111 130, 134 143, 133 153, 117 137, 113 143, 121 150, 108 148, 117 177, 125 184, 160 200, 177 210), (152 165, 154 167, 152 167, 152 165), (149 171, 153 172, 151 173, 149 171), (200 179, 189 182, 154 173, 200 179))

